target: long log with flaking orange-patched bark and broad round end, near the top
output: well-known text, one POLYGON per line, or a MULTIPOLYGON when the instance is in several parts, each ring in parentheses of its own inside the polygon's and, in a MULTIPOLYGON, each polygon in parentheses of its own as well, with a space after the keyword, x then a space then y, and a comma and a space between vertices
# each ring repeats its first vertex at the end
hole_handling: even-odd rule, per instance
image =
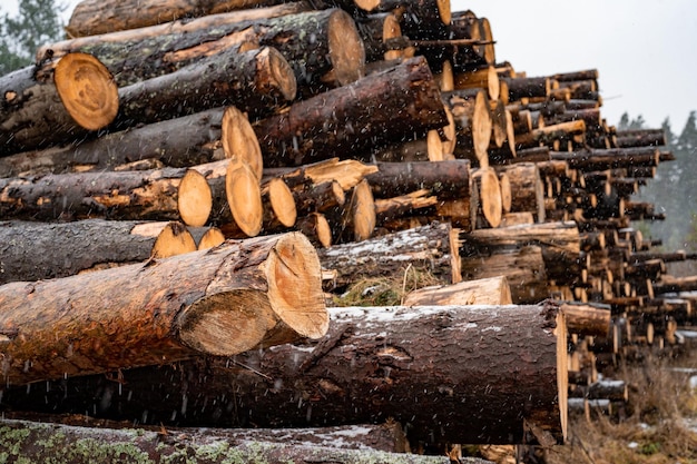
POLYGON ((320 83, 330 70, 338 85, 363 75, 363 42, 348 13, 337 9, 294 14, 273 11, 271 17, 243 20, 226 13, 228 17, 208 19, 203 26, 204 19, 197 20, 196 28, 178 23, 171 30, 154 27, 140 34, 128 31, 102 36, 101 40, 59 42, 43 48, 38 59, 66 50, 91 53, 105 63, 119 87, 170 73, 226 49, 249 47, 278 49, 293 67, 298 86, 320 83))

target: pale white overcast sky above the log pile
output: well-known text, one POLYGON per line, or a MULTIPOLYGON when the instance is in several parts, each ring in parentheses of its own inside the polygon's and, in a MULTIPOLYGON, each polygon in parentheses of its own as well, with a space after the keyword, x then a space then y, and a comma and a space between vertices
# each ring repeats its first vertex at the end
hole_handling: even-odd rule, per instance
MULTIPOLYGON (((66 21, 79 0, 68 6, 66 21)), ((0 0, 16 11, 17 0, 0 0)), ((695 0, 451 0, 491 22, 497 59, 528 76, 596 68, 603 117, 624 111, 651 127, 670 117, 679 132, 697 110, 695 0)))

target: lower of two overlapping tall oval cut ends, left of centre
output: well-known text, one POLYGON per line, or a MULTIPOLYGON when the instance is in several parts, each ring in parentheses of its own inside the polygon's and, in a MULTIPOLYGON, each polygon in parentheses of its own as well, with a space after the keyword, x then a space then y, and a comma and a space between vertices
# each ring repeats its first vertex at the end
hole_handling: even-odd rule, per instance
POLYGON ((225 176, 225 192, 235 223, 248 237, 262 230, 264 210, 257 176, 246 162, 230 162, 225 176))

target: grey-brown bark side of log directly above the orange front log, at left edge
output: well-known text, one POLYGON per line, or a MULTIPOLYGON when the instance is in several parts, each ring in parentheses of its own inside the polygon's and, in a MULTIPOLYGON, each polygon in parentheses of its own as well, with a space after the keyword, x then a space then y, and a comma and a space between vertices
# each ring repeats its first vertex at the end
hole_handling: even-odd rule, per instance
POLYGON ((88 219, 46 224, 0 223, 0 284, 67 277, 104 265, 134 264, 150 250, 167 223, 88 219))

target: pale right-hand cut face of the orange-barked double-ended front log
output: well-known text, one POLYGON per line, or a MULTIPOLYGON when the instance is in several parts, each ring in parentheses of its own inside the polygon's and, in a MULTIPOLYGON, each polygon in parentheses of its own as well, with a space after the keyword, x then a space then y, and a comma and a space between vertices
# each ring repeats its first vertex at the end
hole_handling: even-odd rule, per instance
POLYGON ((307 237, 289 233, 279 238, 266 260, 266 275, 274 313, 302 336, 324 336, 330 317, 321 292, 322 266, 307 237))

